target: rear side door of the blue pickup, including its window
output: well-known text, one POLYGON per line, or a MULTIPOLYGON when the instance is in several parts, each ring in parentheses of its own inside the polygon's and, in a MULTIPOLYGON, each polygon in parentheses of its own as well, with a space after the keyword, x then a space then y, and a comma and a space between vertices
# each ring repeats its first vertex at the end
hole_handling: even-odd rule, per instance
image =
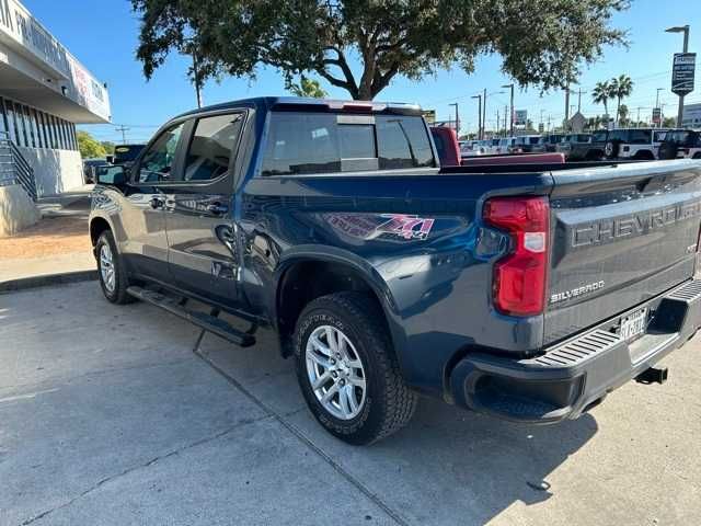
POLYGON ((245 113, 206 114, 188 122, 183 170, 168 187, 169 267, 177 287, 235 307, 239 248, 233 162, 245 113))

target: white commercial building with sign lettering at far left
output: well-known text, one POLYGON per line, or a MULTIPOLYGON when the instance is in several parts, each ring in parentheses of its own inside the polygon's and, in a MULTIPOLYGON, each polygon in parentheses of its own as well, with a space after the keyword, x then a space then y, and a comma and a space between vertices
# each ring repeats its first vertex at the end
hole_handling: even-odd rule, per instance
POLYGON ((34 183, 38 196, 81 186, 76 125, 110 121, 106 85, 22 3, 0 0, 0 186, 34 183))

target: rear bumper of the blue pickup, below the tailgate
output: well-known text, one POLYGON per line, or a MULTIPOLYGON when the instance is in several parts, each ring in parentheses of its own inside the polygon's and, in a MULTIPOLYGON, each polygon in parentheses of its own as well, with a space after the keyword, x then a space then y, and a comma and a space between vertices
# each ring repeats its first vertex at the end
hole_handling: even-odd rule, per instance
POLYGON ((517 422, 576 419, 696 334, 701 327, 701 279, 631 312, 643 307, 650 312, 647 332, 630 343, 614 332, 617 317, 533 358, 470 354, 452 369, 452 397, 459 405, 517 422))

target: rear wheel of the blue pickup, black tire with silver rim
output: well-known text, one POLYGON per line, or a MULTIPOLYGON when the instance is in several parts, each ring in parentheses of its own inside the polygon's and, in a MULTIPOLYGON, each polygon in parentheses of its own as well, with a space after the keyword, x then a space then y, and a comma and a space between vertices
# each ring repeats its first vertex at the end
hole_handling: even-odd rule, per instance
POLYGON ((382 319, 369 296, 345 291, 311 301, 295 330, 297 379, 307 405, 326 431, 348 444, 367 445, 391 435, 416 409, 418 397, 404 384, 382 319), (334 350, 341 359, 333 359, 334 350), (320 380, 317 389, 313 379, 320 380))

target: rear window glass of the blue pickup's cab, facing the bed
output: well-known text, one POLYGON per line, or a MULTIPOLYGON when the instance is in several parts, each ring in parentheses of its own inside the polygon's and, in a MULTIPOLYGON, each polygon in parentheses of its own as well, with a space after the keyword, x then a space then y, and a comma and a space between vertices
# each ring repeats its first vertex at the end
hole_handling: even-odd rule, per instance
POLYGON ((434 167, 420 116, 273 112, 263 175, 434 167))

